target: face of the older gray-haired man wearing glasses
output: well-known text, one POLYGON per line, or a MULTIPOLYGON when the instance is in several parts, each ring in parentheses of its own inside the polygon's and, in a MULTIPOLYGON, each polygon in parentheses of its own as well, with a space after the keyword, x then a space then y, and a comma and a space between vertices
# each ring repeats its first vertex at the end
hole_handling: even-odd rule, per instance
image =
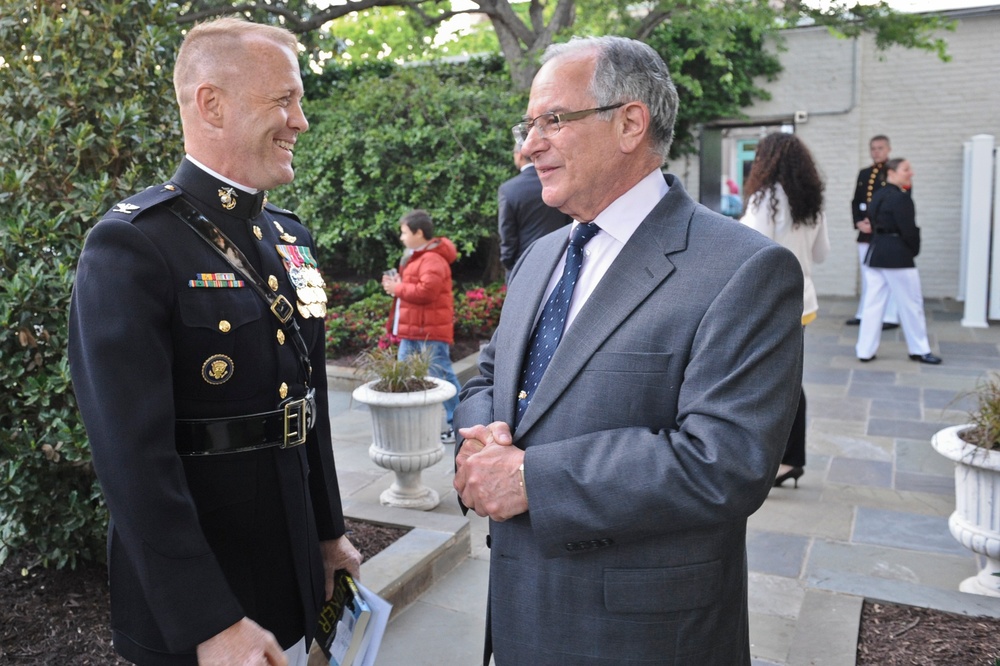
MULTIPOLYGON (((527 116, 569 113, 597 106, 588 92, 594 74, 595 51, 546 62, 531 84, 527 116)), ((621 182, 625 169, 619 149, 616 118, 590 115, 561 123, 558 134, 542 139, 532 129, 521 151, 529 155, 542 182, 542 199, 553 208, 589 222, 621 196, 628 186, 621 182)))

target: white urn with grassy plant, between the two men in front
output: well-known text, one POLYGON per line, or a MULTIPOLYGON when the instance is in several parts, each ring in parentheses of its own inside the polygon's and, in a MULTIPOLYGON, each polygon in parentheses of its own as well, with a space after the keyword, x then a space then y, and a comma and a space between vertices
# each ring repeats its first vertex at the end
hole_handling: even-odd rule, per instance
POLYGON ((372 415, 368 455, 396 474, 379 500, 404 509, 433 509, 440 497, 421 483, 420 473, 444 456, 442 404, 455 395, 455 387, 428 375, 430 356, 424 353, 398 360, 394 347, 372 349, 363 352, 356 365, 369 380, 352 394, 372 415))

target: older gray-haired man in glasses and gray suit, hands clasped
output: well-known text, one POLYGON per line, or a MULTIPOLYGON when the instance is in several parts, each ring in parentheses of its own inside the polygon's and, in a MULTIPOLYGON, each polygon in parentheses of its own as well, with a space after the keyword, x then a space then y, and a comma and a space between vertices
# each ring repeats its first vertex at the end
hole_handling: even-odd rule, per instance
POLYGON ((511 275, 455 413, 455 488, 491 518, 498 666, 750 663, 746 520, 798 400, 802 272, 663 176, 676 109, 648 46, 574 40, 546 52, 514 130, 577 224, 511 275), (567 236, 588 225, 537 380, 567 236))

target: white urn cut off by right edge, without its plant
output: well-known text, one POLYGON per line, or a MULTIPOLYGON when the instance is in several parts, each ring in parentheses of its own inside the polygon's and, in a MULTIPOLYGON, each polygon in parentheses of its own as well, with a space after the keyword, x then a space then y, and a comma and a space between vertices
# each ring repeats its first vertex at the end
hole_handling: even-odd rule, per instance
POLYGON ((934 434, 931 446, 955 461, 955 512, 948 519, 952 536, 982 555, 986 566, 958 586, 962 592, 1000 597, 1000 451, 969 444, 959 437, 968 425, 934 434))

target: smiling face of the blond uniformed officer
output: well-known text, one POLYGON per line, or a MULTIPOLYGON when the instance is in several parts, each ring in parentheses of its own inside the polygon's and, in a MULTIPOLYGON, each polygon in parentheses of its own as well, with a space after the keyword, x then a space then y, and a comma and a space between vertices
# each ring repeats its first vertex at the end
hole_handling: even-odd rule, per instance
POLYGON ((253 38, 242 76, 219 89, 223 119, 216 156, 219 173, 268 190, 292 182, 296 137, 309 129, 302 112, 302 78, 286 46, 253 38))

